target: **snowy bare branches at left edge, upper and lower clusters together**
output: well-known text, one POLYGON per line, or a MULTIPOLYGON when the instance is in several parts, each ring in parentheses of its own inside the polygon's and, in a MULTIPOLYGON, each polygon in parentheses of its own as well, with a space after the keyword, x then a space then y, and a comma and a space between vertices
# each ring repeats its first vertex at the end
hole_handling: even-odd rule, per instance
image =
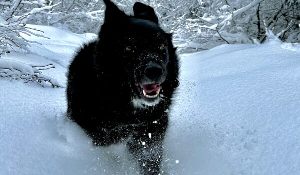
MULTIPOLYGON (((52 15, 50 0, 1 0, 0 1, 0 57, 11 51, 29 52, 31 43, 38 43, 23 37, 34 35, 44 37, 42 31, 28 27, 29 20, 46 20, 45 16, 52 15), (33 32, 34 31, 34 32, 33 32), (39 32, 36 32, 39 31, 39 32)), ((58 5, 58 4, 57 4, 58 5)), ((59 14, 59 13, 58 13, 59 14)), ((36 21, 38 21, 36 20, 36 21)), ((61 87, 52 78, 42 75, 41 70, 55 68, 54 65, 31 66, 21 62, 0 59, 0 77, 8 80, 23 80, 36 82, 42 87, 45 83, 52 87, 61 87)))

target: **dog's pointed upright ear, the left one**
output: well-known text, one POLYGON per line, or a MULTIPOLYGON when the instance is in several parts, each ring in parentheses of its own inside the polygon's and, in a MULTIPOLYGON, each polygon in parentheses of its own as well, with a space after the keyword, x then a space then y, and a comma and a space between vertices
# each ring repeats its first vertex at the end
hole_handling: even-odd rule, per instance
POLYGON ((115 20, 122 20, 122 19, 125 19, 128 17, 123 11, 121 11, 110 0, 103 0, 103 1, 106 5, 104 23, 112 22, 115 20))

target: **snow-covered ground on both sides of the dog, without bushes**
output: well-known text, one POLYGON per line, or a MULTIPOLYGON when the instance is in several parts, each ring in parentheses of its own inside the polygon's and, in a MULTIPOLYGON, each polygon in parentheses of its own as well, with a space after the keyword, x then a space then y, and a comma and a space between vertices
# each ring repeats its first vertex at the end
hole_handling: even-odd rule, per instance
MULTIPOLYGON (((52 63, 65 86, 89 37, 34 26, 32 53, 0 59, 52 63)), ((300 45, 221 45, 181 55, 181 85, 165 139, 166 174, 300 174, 300 45)), ((0 60, 0 65, 3 63, 0 60)), ((124 145, 93 147, 66 121, 65 88, 0 78, 0 174, 132 174, 124 145)))

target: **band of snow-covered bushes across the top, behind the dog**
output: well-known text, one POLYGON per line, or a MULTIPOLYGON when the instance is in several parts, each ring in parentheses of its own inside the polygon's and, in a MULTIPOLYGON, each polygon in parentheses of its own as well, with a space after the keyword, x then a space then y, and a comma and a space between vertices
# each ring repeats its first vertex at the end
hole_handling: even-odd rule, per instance
MULTIPOLYGON (((179 52, 221 44, 264 43, 272 30, 283 42, 300 41, 300 0, 139 0, 155 8, 161 26, 174 34, 179 52)), ((132 14, 135 0, 114 0, 132 14)), ((20 33, 40 34, 26 24, 97 33, 103 22, 102 0, 0 0, 0 55, 28 52, 32 41, 20 33)))

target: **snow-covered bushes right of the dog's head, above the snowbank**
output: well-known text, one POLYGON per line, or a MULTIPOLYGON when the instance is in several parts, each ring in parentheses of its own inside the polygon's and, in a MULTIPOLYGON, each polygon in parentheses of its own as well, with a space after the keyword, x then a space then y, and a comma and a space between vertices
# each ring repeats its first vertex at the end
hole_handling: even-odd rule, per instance
POLYGON ((281 33, 282 41, 300 41, 300 0, 172 0, 156 9, 185 51, 253 39, 263 43, 265 28, 281 33))

